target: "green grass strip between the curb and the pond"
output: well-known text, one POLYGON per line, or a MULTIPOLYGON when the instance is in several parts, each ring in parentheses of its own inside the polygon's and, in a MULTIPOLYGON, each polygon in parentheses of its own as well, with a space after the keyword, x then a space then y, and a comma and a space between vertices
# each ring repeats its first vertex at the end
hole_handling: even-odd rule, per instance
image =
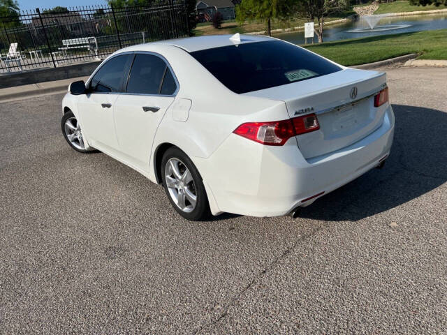
POLYGON ((306 47, 344 66, 413 53, 420 54, 419 59, 447 59, 447 29, 355 38, 306 47))

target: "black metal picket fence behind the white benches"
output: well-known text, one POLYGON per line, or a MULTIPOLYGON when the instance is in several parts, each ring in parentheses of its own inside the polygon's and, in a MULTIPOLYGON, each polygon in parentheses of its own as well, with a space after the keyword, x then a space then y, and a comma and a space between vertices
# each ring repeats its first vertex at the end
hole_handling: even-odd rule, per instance
POLYGON ((189 36, 184 0, 0 17, 0 73, 103 59, 122 47, 189 36))

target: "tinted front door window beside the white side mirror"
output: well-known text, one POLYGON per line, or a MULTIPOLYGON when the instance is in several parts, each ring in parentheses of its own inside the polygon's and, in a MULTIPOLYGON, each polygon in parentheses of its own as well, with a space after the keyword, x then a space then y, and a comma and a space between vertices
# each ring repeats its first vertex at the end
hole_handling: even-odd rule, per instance
POLYGON ((127 66, 133 55, 122 54, 107 61, 91 79, 93 92, 119 92, 123 78, 127 75, 127 66))

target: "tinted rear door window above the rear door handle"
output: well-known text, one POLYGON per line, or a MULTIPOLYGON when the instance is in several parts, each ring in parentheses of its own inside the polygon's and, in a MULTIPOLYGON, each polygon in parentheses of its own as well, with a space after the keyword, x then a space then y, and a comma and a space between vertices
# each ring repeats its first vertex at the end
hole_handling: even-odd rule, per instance
POLYGON ((153 54, 137 54, 131 68, 127 93, 159 94, 166 63, 153 54))

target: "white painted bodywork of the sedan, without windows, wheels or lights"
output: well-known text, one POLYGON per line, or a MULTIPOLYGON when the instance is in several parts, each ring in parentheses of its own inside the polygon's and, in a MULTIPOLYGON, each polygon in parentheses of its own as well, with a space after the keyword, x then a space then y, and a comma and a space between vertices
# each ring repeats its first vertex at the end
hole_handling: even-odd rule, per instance
MULTIPOLYGON (((188 53, 234 44, 229 37, 168 40, 115 52, 162 55, 178 82, 175 96, 68 93, 63 108, 70 109, 80 122, 87 147, 103 151, 151 181, 159 182, 156 149, 166 143, 182 149, 203 177, 214 215, 287 214, 356 179, 388 156, 393 110, 388 102, 372 107, 372 94, 386 86, 385 74, 342 67, 330 75, 235 94, 188 53), (348 105, 341 111, 331 110, 353 101, 349 96, 353 85, 358 87, 355 100, 365 99, 351 109, 348 105), (101 107, 102 103, 110 103, 110 109, 101 107), (141 107, 148 105, 160 107, 159 112, 143 112, 141 107), (309 106, 321 129, 291 137, 283 146, 263 145, 233 133, 245 122, 288 119, 309 106), (338 129, 343 112, 356 109, 368 110, 365 125, 347 133, 338 129), (303 201, 309 197, 314 198, 303 201)), ((241 36, 240 43, 269 39, 241 36)))

